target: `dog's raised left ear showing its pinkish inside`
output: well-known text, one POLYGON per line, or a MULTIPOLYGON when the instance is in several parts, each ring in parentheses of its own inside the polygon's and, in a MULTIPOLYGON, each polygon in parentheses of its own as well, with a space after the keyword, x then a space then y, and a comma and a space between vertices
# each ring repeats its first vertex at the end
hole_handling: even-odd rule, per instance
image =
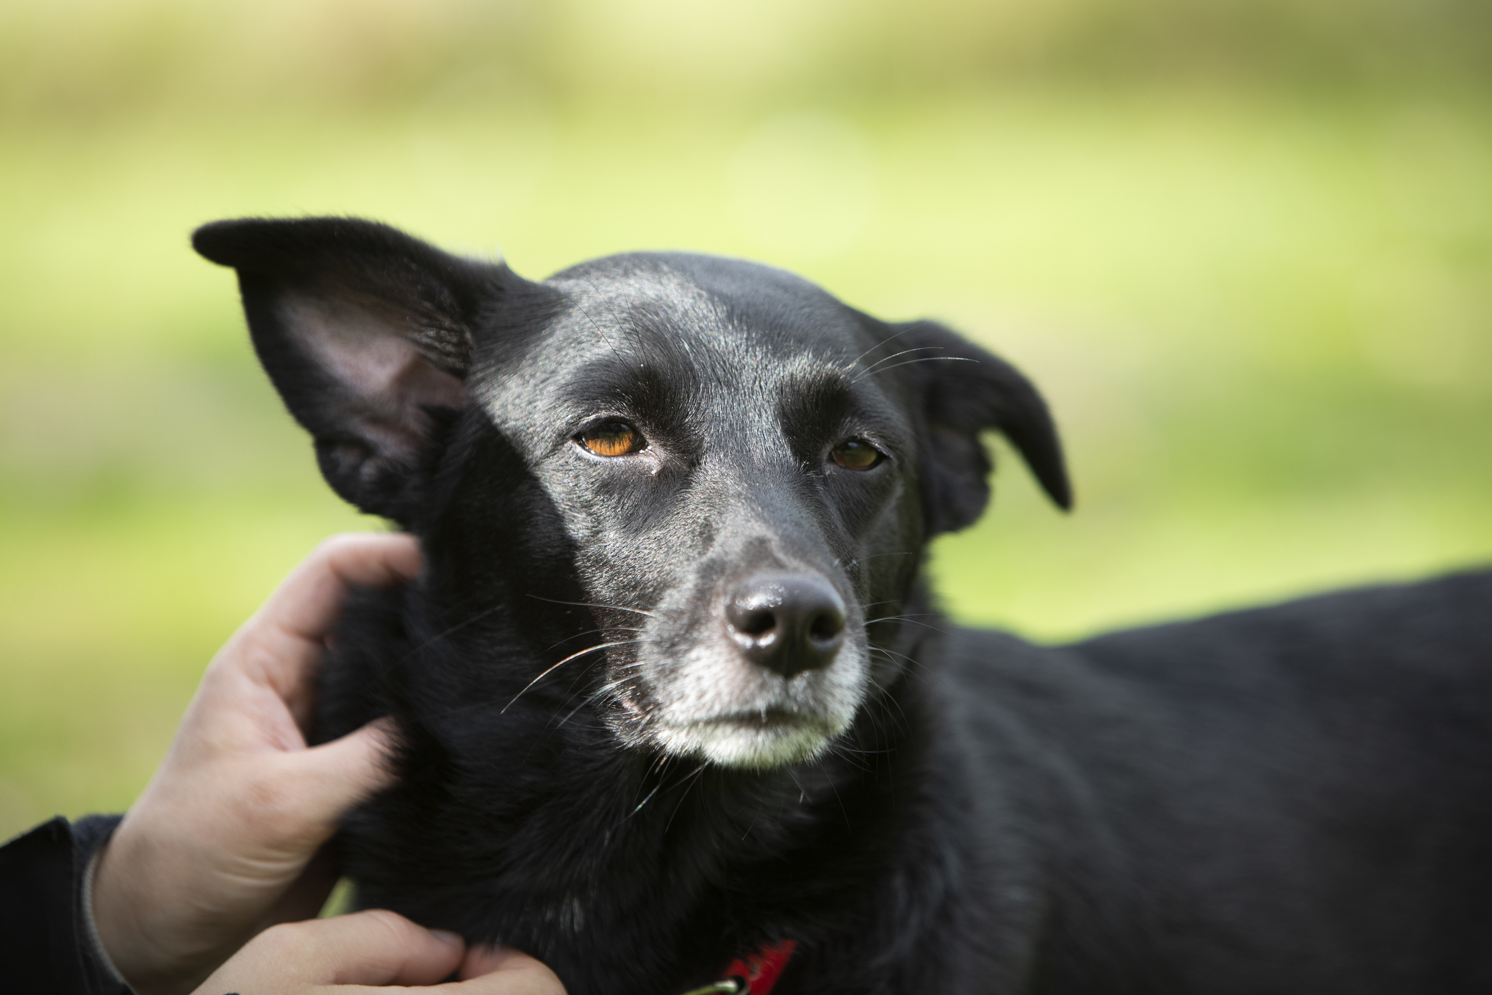
POLYGON ((407 524, 439 409, 466 403, 477 312, 521 280, 348 218, 218 221, 192 248, 239 271, 254 349, 333 489, 407 524))

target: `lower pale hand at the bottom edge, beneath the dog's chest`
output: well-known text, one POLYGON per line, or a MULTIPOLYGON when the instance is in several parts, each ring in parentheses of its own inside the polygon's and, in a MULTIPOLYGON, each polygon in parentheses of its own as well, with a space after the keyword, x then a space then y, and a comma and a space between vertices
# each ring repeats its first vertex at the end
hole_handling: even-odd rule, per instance
POLYGON ((383 985, 436 985, 448 995, 564 995, 554 971, 518 950, 466 950, 461 937, 391 911, 280 925, 261 932, 194 995, 355 995, 383 985), (460 967, 461 982, 436 985, 460 967))

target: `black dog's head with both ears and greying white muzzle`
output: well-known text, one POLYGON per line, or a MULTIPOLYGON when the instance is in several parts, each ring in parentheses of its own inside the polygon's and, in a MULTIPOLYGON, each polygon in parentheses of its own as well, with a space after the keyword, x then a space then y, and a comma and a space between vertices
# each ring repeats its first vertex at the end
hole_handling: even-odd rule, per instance
POLYGON ((639 254, 536 283, 352 219, 216 222, 194 245, 239 271, 327 480, 427 539, 467 616, 513 594, 482 589, 494 558, 534 559, 527 594, 571 579, 606 643, 582 650, 604 661, 592 707, 630 746, 765 768, 847 729, 903 667, 927 539, 988 501, 982 433, 1070 501, 1016 370, 780 270, 639 254))

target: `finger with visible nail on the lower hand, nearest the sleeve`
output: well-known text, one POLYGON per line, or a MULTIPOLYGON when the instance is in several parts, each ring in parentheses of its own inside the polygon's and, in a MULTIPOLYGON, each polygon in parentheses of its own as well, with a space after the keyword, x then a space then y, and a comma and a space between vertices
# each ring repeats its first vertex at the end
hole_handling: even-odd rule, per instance
POLYGON ((213 971, 195 995, 310 995, 345 992, 336 988, 345 985, 434 985, 457 968, 464 950, 455 934, 425 929, 376 908, 266 929, 213 971))

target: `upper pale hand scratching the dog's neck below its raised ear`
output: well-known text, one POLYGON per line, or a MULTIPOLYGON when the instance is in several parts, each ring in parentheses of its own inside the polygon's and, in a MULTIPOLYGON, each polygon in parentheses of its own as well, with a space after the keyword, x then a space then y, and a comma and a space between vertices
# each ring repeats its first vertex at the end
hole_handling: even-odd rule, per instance
POLYGON ((315 916, 334 883, 312 861, 386 786, 389 728, 306 746, 316 667, 348 585, 418 576, 409 536, 321 543, 212 659, 166 759, 101 852, 98 938, 140 995, 191 991, 249 937, 315 916))

